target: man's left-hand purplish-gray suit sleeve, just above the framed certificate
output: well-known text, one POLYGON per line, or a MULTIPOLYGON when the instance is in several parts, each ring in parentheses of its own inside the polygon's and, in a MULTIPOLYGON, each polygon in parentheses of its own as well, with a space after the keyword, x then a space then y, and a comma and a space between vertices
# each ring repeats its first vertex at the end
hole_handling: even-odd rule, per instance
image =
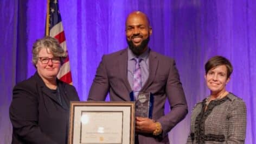
POLYGON ((105 56, 100 61, 95 78, 89 90, 88 101, 105 101, 109 91, 109 83, 105 64, 105 56))

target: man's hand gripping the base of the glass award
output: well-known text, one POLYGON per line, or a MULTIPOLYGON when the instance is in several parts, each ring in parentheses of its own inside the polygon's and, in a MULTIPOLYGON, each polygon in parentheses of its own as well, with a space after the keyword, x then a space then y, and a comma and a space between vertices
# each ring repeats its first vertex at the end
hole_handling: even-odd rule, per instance
POLYGON ((136 117, 135 131, 140 133, 153 133, 156 129, 155 121, 149 118, 136 117))

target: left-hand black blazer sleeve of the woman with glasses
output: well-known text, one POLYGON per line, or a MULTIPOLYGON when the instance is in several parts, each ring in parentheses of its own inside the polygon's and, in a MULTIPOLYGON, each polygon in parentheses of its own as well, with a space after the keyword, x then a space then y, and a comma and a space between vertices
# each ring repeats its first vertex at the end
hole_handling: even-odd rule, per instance
POLYGON ((28 86, 23 85, 14 87, 9 109, 13 133, 24 143, 54 144, 56 142, 44 134, 38 126, 38 94, 35 93, 36 90, 28 89, 28 86))

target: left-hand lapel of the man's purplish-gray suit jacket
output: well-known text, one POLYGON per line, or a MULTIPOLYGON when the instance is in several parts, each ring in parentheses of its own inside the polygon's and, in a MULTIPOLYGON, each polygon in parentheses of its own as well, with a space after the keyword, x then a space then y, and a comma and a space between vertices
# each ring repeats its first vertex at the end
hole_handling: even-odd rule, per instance
POLYGON ((120 70, 121 78, 123 79, 123 82, 127 88, 127 91, 131 92, 132 89, 127 78, 127 60, 128 60, 127 49, 120 52, 119 70, 120 70))

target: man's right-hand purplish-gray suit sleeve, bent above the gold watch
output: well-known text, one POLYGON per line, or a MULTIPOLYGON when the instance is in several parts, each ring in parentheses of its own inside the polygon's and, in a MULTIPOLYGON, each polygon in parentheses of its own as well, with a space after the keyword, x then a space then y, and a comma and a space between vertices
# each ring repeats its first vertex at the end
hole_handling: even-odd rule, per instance
POLYGON ((167 85, 165 92, 169 100, 171 111, 162 116, 158 121, 163 128, 163 135, 167 135, 168 132, 185 118, 188 113, 187 101, 180 81, 176 64, 174 60, 171 60, 169 76, 167 79, 167 85))

